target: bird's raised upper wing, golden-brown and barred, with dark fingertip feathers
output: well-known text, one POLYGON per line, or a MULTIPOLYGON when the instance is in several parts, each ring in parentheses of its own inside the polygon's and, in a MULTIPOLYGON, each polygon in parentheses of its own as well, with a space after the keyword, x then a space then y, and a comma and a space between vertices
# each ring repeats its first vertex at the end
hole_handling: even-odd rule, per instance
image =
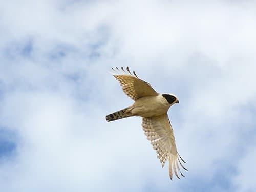
MULTIPOLYGON (((118 71, 112 68, 115 72, 121 72, 118 68, 116 69, 118 71)), ((113 74, 113 76, 120 82, 123 92, 131 99, 136 101, 141 97, 159 95, 159 93, 151 87, 150 83, 139 79, 134 71, 132 74, 128 67, 126 68, 127 71, 125 71, 123 67, 121 67, 121 70, 124 74, 113 74)))

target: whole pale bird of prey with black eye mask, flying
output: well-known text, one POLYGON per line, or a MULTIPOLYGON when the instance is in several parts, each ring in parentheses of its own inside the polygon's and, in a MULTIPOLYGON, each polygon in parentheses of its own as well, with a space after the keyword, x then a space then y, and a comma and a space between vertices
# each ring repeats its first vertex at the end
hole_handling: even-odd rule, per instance
POLYGON ((113 76, 120 82, 123 92, 135 102, 132 106, 107 115, 106 121, 131 116, 142 117, 144 134, 156 150, 162 167, 166 160, 169 161, 170 179, 173 180, 173 172, 180 179, 177 170, 181 176, 185 177, 179 165, 187 170, 181 161, 186 162, 177 152, 173 128, 167 115, 170 106, 179 103, 178 98, 173 94, 157 93, 149 83, 139 79, 135 71, 132 74, 128 67, 126 71, 123 67, 121 67, 122 71, 117 67, 116 70, 113 68, 112 70, 115 72, 113 76))

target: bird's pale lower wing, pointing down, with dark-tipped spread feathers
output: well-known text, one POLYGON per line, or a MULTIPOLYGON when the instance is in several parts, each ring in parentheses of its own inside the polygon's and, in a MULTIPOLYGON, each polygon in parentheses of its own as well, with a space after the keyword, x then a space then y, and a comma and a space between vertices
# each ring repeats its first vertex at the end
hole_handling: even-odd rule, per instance
POLYGON ((172 125, 170 124, 167 113, 159 116, 153 117, 143 117, 142 127, 147 139, 151 141, 154 150, 157 151, 157 157, 160 159, 162 167, 164 166, 166 160, 169 160, 169 176, 173 180, 173 171, 177 178, 180 179, 177 174, 177 169, 180 174, 185 177, 179 167, 187 170, 181 161, 185 161, 180 157, 177 152, 174 132, 172 125))

